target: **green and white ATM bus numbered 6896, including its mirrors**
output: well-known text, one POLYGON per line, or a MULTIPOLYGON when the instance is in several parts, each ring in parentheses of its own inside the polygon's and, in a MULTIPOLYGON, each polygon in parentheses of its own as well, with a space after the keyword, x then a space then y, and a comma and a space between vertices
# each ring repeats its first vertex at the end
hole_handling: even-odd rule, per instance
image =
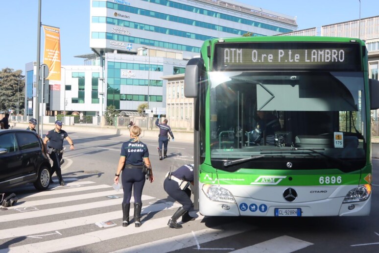
POLYGON ((184 83, 195 108, 195 208, 207 216, 369 215, 379 81, 368 78, 367 55, 354 38, 205 41, 184 83), (270 131, 260 112, 277 127, 270 131))

